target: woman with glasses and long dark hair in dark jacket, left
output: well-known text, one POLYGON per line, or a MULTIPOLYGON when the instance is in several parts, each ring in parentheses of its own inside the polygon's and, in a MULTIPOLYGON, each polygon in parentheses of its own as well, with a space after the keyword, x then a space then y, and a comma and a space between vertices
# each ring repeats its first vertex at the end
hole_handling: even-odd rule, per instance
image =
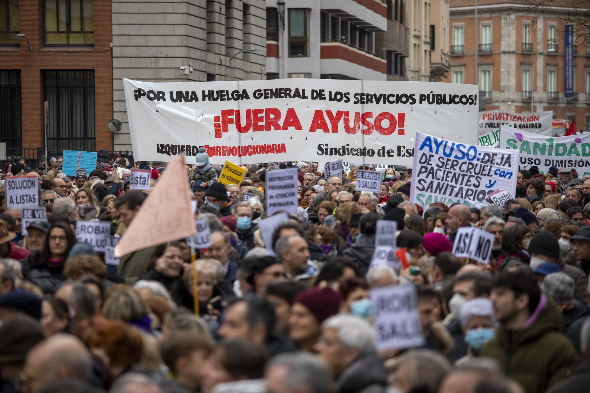
POLYGON ((70 223, 56 220, 45 238, 40 252, 21 261, 25 280, 37 285, 44 295, 53 295, 66 278, 63 274, 65 259, 76 243, 70 223))

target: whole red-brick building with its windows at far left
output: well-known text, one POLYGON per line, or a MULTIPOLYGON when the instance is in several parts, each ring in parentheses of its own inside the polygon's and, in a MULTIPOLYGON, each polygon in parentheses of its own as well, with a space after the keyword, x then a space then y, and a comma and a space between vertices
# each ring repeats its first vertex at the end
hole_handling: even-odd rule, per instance
MULTIPOLYGON (((112 150, 110 0, 0 0, 0 142, 14 157, 48 150, 112 150), (17 37, 24 34, 27 39, 17 37), (21 150, 23 149, 23 150, 21 150)), ((31 157, 34 158, 34 157, 31 157)))

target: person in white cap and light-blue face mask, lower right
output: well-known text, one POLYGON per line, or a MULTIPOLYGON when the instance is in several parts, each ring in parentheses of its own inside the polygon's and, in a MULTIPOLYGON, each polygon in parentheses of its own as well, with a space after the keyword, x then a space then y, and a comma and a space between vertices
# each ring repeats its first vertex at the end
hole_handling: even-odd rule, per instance
POLYGON ((467 355, 455 362, 455 366, 471 364, 479 356, 481 347, 494 337, 494 305, 490 299, 469 300, 461 306, 459 320, 467 344, 467 355))

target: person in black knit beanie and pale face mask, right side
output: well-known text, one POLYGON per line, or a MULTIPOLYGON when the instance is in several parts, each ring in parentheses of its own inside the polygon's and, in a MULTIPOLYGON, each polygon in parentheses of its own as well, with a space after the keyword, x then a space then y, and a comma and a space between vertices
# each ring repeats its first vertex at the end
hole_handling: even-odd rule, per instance
POLYGON ((588 286, 588 276, 578 267, 563 263, 559 260, 559 243, 553 233, 548 230, 542 230, 537 233, 529 243, 530 268, 533 272, 542 265, 542 263, 555 263, 561 271, 571 277, 575 282, 574 298, 582 305, 589 306, 588 295, 586 295, 586 286, 588 286))

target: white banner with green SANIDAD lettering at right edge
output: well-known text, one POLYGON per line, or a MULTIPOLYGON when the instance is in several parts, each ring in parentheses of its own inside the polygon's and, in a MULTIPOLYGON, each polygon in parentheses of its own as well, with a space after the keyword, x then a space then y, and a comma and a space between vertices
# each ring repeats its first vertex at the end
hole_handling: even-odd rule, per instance
POLYGON ((546 173, 553 165, 575 168, 580 177, 590 169, 590 133, 548 137, 500 127, 500 148, 520 151, 520 168, 539 167, 546 173))

